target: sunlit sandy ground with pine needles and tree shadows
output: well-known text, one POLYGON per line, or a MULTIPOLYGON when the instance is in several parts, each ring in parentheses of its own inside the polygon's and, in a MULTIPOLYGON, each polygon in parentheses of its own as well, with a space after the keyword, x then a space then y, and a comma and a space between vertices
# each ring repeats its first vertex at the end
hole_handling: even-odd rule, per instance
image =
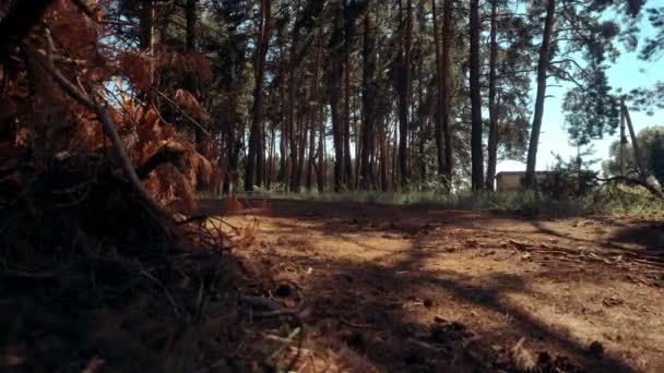
POLYGON ((237 254, 304 306, 257 320, 251 342, 294 371, 664 372, 662 218, 252 205, 229 218, 260 219, 237 254))

